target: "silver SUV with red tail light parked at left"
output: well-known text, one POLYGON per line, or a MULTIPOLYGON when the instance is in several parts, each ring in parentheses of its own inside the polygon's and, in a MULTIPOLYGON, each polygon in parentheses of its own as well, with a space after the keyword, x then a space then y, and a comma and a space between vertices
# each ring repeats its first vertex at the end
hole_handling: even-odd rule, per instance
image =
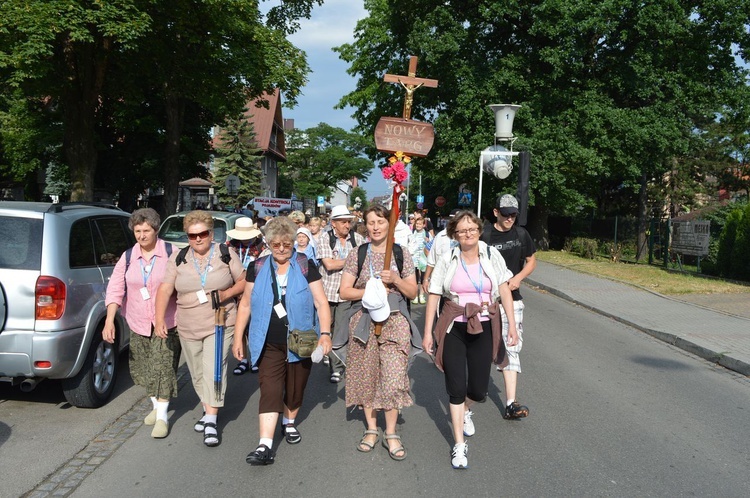
POLYGON ((135 243, 114 207, 0 202, 0 380, 31 391, 61 379, 70 404, 93 408, 114 389, 130 329, 102 341, 107 282, 135 243))

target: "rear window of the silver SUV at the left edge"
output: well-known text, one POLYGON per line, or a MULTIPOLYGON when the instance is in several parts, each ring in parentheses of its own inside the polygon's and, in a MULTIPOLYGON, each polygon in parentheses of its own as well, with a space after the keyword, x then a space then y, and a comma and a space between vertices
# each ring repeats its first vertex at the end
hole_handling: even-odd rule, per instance
POLYGON ((0 216, 0 268, 38 270, 42 267, 41 219, 0 216))

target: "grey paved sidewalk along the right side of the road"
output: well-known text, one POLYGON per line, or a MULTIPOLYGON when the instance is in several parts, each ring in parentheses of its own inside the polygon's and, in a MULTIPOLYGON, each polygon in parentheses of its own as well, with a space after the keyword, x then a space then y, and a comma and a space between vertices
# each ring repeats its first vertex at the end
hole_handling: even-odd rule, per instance
POLYGON ((728 312, 718 309, 720 296, 703 300, 716 303, 709 307, 542 261, 525 281, 750 376, 750 293, 732 295, 736 306, 728 312))

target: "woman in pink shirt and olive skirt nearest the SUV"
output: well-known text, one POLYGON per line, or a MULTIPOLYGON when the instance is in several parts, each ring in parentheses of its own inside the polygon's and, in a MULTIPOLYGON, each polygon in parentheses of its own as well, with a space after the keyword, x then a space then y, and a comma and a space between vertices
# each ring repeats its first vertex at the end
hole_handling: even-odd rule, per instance
POLYGON ((154 331, 156 290, 173 250, 171 244, 157 237, 160 222, 158 213, 151 208, 138 209, 130 215, 128 227, 137 243, 120 256, 112 272, 105 300, 107 320, 102 330, 105 341, 117 340, 115 315, 122 308, 130 327, 130 375, 133 382, 146 388, 153 403, 154 409, 143 422, 154 426, 151 431, 154 438, 169 434, 167 411, 170 398, 177 396, 177 366, 182 351, 174 297, 167 306, 166 334, 154 331))

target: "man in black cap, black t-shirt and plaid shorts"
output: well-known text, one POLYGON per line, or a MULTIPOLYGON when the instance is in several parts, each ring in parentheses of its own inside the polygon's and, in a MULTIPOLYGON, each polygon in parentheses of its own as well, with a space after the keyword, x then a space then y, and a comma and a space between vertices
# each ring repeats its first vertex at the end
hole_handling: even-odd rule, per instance
MULTIPOLYGON (((506 397, 506 408, 503 418, 510 420, 523 418, 529 414, 528 407, 521 405, 516 398, 518 374, 521 373, 519 353, 523 347, 524 305, 519 287, 523 279, 531 275, 531 272, 536 268, 536 256, 534 255, 536 248, 529 232, 523 227, 516 225, 518 201, 514 196, 505 194, 500 197, 494 213, 497 221, 491 226, 485 227, 482 233, 482 240, 488 245, 495 246, 500 251, 508 269, 513 272, 513 278, 508 280, 508 285, 513 294, 513 310, 516 320, 516 331, 518 332, 518 344, 506 348, 510 362, 502 370, 506 397)), ((503 339, 507 341, 508 317, 504 311, 502 317, 503 339)))

